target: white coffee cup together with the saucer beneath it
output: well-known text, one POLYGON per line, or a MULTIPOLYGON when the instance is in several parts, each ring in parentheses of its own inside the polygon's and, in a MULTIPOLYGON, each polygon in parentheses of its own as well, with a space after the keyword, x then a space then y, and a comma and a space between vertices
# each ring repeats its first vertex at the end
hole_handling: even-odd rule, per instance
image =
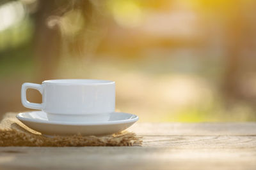
POLYGON ((17 118, 45 135, 103 135, 122 131, 138 120, 130 113, 115 112, 115 81, 62 79, 42 84, 24 83, 21 101, 26 108, 17 118), (30 103, 26 90, 36 89, 42 103, 30 103))

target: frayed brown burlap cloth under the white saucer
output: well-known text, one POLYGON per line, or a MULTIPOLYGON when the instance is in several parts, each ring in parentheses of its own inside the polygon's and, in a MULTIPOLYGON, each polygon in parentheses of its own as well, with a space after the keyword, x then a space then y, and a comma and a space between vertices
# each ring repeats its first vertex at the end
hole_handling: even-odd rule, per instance
POLYGON ((15 117, 6 113, 0 123, 0 146, 132 146, 141 145, 140 136, 119 132, 110 136, 54 136, 47 138, 33 131, 15 117))

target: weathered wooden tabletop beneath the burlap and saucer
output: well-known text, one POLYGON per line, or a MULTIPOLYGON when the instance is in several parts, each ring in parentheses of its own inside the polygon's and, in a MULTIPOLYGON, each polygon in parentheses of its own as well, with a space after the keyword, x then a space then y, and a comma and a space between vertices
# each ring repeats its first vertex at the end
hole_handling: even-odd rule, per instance
POLYGON ((2 147, 0 169, 256 169, 256 123, 138 123, 143 146, 2 147))

